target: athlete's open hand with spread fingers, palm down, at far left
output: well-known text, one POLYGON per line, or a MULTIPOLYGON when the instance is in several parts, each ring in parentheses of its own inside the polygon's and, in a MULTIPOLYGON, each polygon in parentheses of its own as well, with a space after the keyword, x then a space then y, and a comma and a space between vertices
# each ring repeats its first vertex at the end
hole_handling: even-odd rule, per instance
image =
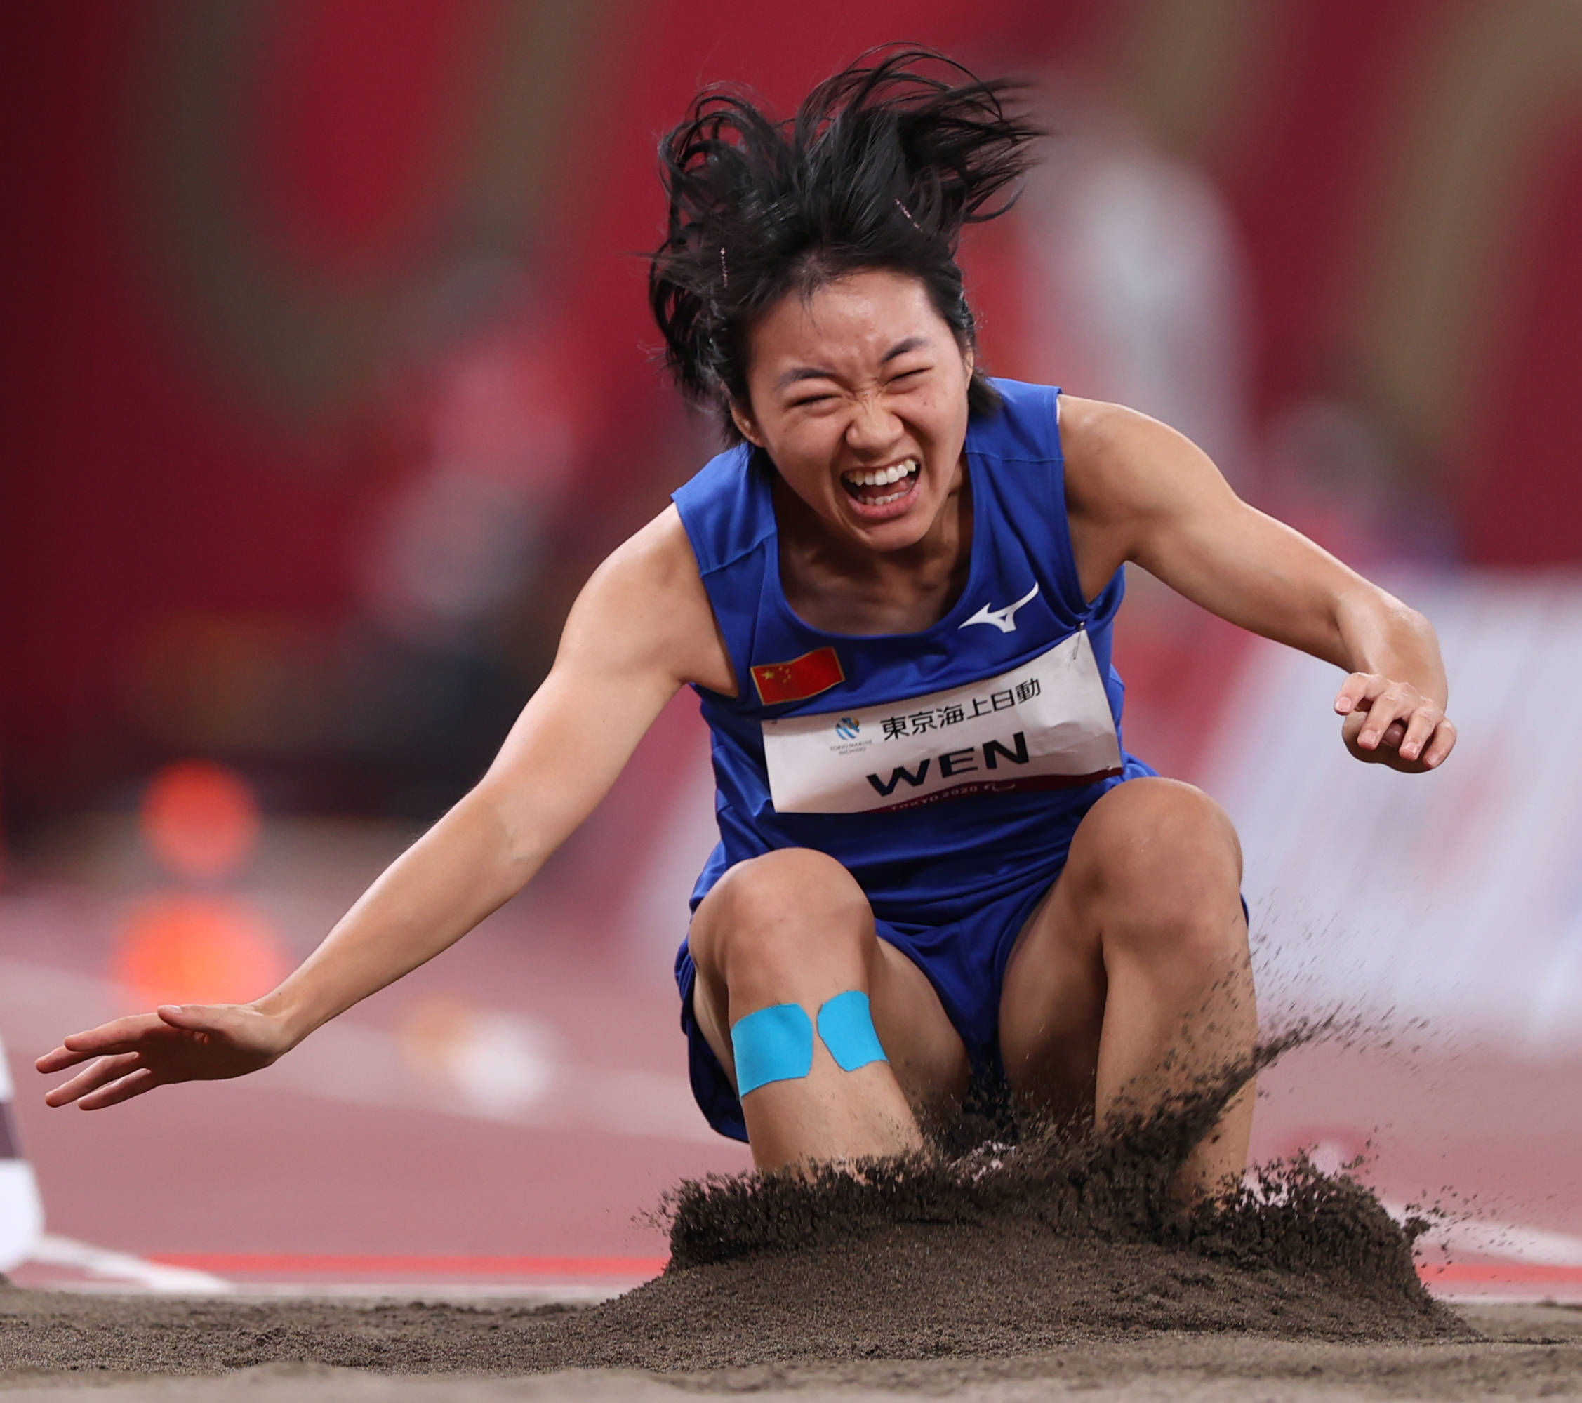
POLYGON ((35 1066, 65 1071, 92 1065, 44 1096, 47 1106, 101 1110, 169 1082, 217 1082, 269 1066, 291 1041, 280 1020, 252 1004, 165 1004, 73 1033, 35 1066))

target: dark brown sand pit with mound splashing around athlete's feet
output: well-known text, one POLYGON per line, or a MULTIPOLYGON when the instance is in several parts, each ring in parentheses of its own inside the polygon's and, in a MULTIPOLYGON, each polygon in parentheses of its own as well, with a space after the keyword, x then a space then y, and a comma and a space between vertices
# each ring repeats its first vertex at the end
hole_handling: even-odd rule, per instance
POLYGON ((669 1204, 664 1276, 582 1310, 0 1291, 0 1387, 141 1376, 128 1400, 1582 1397, 1582 1329, 1566 1329, 1582 1313, 1552 1310, 1536 1335, 1493 1321, 1508 1338, 1490 1341, 1422 1289, 1410 1229, 1343 1175, 1275 1166, 1182 1208, 1171 1175, 1231 1087, 1106 1139, 1027 1136, 869 1166, 861 1182, 687 1185, 669 1204), (207 1375, 207 1392, 182 1375, 207 1375))

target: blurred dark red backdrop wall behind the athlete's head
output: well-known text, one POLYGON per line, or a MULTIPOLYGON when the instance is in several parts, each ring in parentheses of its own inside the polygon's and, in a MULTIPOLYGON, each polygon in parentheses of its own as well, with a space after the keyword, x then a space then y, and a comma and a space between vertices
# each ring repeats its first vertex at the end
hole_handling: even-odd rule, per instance
MULTIPOLYGON (((899 36, 1120 114, 1207 179, 1255 435, 1343 400, 1397 536, 1582 557, 1574 6, 150 0, 0 27, 13 835, 185 754, 283 808, 443 807, 590 565, 710 451, 650 361, 657 134, 704 81, 788 108, 899 36), (473 486, 424 497, 446 457, 473 486), (414 618, 389 558, 473 554, 490 475, 532 558, 498 547, 492 584, 451 592, 471 607, 414 618), (403 511, 456 527, 402 547, 403 511)), ((1081 357, 1030 350, 1014 220, 967 255, 989 362, 1088 389, 1081 357)))

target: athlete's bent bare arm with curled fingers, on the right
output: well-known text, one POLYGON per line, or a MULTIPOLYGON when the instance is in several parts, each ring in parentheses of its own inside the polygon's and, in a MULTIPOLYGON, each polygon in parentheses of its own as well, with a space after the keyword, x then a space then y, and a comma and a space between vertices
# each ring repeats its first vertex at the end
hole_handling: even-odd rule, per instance
POLYGON ((1174 429, 1063 397, 1071 535, 1092 598, 1126 560, 1204 609, 1334 663, 1342 739, 1357 758, 1417 772, 1455 743, 1433 626, 1300 531, 1242 501, 1174 429))

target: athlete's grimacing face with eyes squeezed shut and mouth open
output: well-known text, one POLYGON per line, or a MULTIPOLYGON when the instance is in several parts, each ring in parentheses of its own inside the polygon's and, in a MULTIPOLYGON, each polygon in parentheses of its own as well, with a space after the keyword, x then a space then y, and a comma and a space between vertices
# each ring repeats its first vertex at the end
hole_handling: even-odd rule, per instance
POLYGON ((859 272, 764 313, 732 414, 837 535, 899 550, 959 479, 971 369, 921 282, 859 272))

